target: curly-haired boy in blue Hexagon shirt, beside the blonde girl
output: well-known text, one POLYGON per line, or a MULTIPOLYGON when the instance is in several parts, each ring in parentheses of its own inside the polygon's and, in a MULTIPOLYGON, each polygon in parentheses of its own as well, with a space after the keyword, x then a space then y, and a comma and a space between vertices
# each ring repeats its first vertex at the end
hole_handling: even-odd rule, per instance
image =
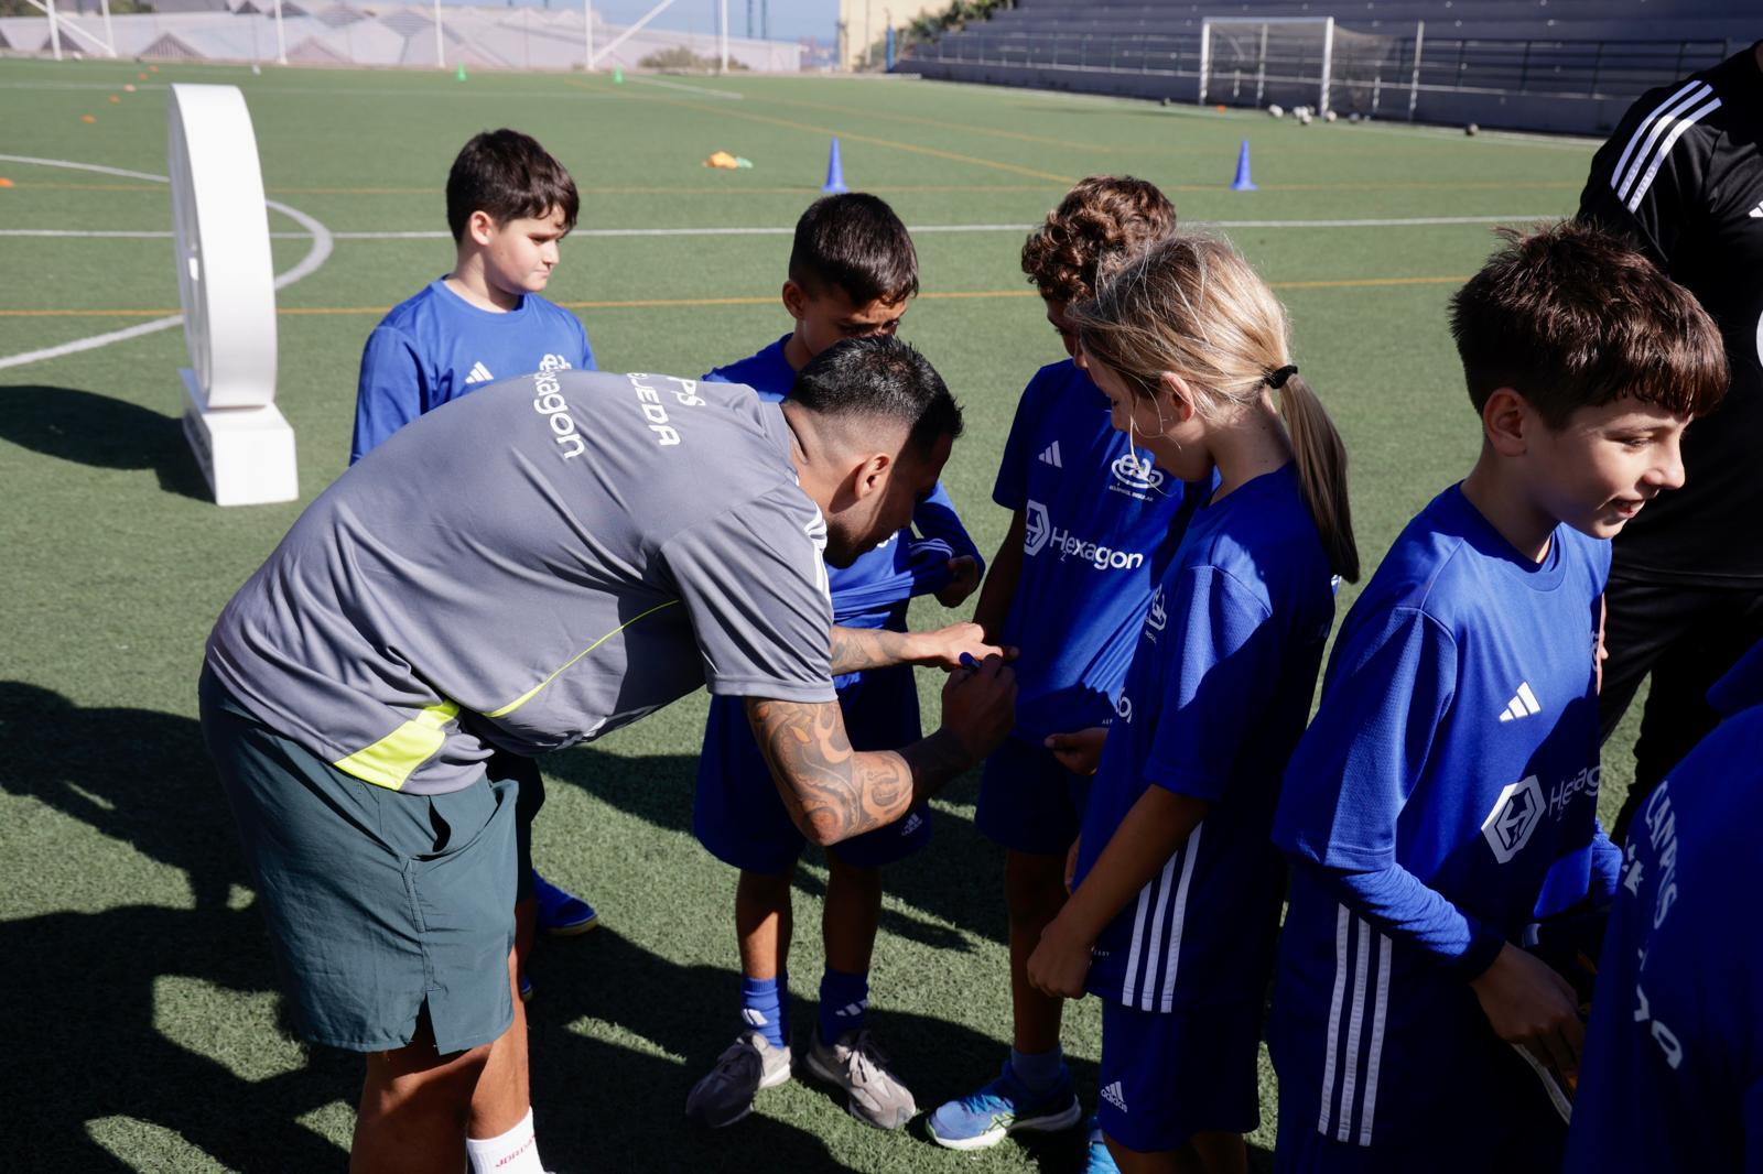
MULTIPOLYGON (((1040 931, 1065 906, 1065 855, 1100 753, 1093 746, 1086 754, 1086 735, 1065 732, 1114 717, 1157 583, 1157 552, 1194 499, 1109 423, 1107 397, 1075 360, 1067 308, 1095 296, 1102 264, 1174 227, 1176 210, 1153 183, 1090 176, 1023 243, 1023 271, 1070 358, 1035 372, 1017 404, 993 488, 1014 518, 973 612, 989 638, 1023 645, 1017 724, 986 762, 975 814, 980 832, 1007 850, 1012 1038, 998 1079, 931 1114, 931 1139, 950 1149, 1084 1119, 1060 1049, 1063 1001, 1026 973, 1040 931), (1120 557, 1067 557, 1060 532, 1120 557)), ((1090 1170, 1112 1169, 1100 1130, 1088 1162, 1090 1170)))

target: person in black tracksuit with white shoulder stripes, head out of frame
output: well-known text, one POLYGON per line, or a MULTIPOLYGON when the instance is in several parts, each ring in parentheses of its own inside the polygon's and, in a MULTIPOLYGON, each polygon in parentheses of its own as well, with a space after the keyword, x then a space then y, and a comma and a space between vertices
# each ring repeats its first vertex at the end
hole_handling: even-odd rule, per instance
POLYGON ((1625 234, 1708 310, 1724 404, 1684 437, 1684 488, 1615 543, 1608 739, 1647 673, 1634 786, 1613 828, 1715 724, 1707 691, 1763 638, 1763 41, 1648 90, 1592 160, 1580 217, 1625 234))

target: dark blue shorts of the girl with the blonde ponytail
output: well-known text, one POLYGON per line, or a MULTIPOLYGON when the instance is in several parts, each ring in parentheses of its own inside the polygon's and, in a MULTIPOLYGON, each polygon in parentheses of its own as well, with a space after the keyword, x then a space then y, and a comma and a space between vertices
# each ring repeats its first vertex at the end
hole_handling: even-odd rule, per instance
POLYGON ((1259 1044, 1259 998, 1178 1012, 1102 1003, 1102 1132, 1135 1153, 1179 1149, 1202 1132, 1253 1132, 1259 1044))

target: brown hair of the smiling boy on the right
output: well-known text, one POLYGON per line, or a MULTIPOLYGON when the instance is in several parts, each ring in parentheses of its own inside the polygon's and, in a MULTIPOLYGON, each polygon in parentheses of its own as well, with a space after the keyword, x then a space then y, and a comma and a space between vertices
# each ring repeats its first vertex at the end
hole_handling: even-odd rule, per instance
POLYGON ((1678 416, 1719 405, 1721 333, 1652 261, 1576 220, 1500 236, 1506 247, 1451 298, 1477 412, 1499 388, 1523 395, 1551 428, 1622 397, 1678 416))

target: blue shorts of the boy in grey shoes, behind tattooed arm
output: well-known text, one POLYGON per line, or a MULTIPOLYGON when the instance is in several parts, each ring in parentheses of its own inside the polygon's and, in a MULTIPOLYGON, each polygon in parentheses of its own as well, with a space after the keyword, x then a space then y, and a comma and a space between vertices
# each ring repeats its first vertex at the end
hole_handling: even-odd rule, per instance
MULTIPOLYGON (((917 742, 919 684, 910 665, 859 673, 839 689, 844 733, 852 749, 901 749, 917 742)), ((785 873, 807 841, 785 811, 770 767, 748 724, 746 702, 712 696, 698 758, 691 832, 710 855, 749 873, 785 873)), ((832 851, 857 867, 894 864, 931 843, 931 816, 920 806, 832 851)))

